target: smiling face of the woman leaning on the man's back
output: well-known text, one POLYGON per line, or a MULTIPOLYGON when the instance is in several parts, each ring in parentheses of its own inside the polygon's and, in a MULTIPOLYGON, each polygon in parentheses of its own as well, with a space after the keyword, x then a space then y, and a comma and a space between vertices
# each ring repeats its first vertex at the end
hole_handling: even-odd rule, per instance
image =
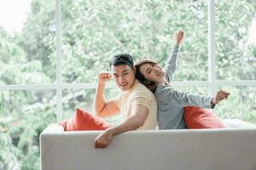
POLYGON ((165 71, 162 71, 160 65, 155 63, 146 63, 139 67, 141 73, 150 82, 165 82, 165 71))

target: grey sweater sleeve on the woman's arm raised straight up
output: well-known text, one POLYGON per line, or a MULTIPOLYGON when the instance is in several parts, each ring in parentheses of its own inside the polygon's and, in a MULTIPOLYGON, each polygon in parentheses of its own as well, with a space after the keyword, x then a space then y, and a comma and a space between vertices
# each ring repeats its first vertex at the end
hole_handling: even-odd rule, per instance
POLYGON ((168 80, 168 82, 172 81, 174 71, 176 70, 178 52, 179 45, 176 44, 172 47, 172 52, 169 55, 169 59, 167 60, 165 66, 166 79, 168 80))

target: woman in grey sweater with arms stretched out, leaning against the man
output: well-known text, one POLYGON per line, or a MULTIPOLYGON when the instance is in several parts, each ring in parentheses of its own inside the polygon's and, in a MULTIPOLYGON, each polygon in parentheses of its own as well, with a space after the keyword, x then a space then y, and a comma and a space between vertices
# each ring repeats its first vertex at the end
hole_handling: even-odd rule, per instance
POLYGON ((160 129, 187 128, 183 119, 185 106, 214 108, 221 100, 227 99, 230 93, 218 91, 215 97, 179 92, 170 86, 176 69, 177 55, 184 32, 177 32, 177 44, 166 63, 164 71, 152 60, 141 60, 136 64, 137 80, 154 92, 158 102, 158 126, 160 129))

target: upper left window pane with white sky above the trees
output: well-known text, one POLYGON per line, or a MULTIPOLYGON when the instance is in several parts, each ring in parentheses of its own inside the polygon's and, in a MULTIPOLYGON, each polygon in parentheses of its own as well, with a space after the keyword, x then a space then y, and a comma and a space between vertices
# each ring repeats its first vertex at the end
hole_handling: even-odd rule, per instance
POLYGON ((0 13, 0 85, 55 82, 55 1, 1 1, 0 13))

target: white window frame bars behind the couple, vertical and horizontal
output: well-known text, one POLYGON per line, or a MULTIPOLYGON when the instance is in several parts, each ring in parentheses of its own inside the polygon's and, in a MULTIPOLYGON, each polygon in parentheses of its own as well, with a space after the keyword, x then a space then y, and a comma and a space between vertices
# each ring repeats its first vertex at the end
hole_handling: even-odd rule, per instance
MULTIPOLYGON (((215 65, 215 40, 214 40, 214 0, 208 0, 208 81, 194 82, 172 82, 176 87, 207 87, 209 95, 215 94, 218 86, 256 86, 256 80, 241 81, 218 81, 216 79, 215 65)), ((3 85, 0 91, 6 90, 55 90, 56 91, 56 113, 57 122, 62 120, 62 90, 63 89, 92 89, 96 88, 96 83, 62 83, 61 82, 61 0, 55 0, 55 26, 56 26, 56 83, 55 84, 35 84, 35 85, 3 85)), ((115 85, 109 83, 107 88, 115 85)))

